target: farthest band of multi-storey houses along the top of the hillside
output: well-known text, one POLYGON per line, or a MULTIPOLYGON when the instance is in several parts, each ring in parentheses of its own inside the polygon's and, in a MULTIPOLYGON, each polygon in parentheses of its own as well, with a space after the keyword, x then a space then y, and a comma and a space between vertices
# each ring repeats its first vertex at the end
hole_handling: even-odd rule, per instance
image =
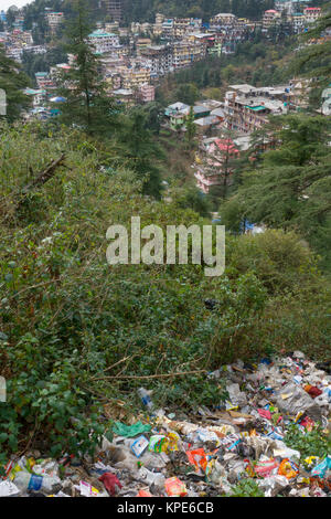
MULTIPOLYGON (((249 21, 232 13, 215 14, 209 22, 197 18, 167 18, 158 13, 154 23, 134 22, 120 27, 120 1, 108 1, 113 21, 98 23, 88 42, 103 63, 103 75, 109 94, 119 103, 149 103, 154 99, 154 88, 169 73, 191 66, 207 54, 221 55, 235 52, 255 30, 267 32, 285 18, 305 30, 320 15, 320 8, 310 8, 310 0, 276 0, 275 9, 265 12, 261 20, 249 21), (299 21, 300 19, 300 21, 299 21)), ((6 25, 6 13, 0 14, 6 25)), ((45 8, 49 35, 55 35, 64 22, 64 13, 45 8)), ((47 45, 33 41, 33 31, 24 30, 24 19, 18 10, 9 30, 0 33, 0 43, 9 56, 22 60, 23 52, 45 53, 47 45)), ((43 72, 43 71, 41 71, 43 72)), ((35 99, 40 100, 39 93, 35 99)), ((257 112, 257 110, 256 110, 257 112)), ((263 116, 263 110, 258 114, 263 116)))

